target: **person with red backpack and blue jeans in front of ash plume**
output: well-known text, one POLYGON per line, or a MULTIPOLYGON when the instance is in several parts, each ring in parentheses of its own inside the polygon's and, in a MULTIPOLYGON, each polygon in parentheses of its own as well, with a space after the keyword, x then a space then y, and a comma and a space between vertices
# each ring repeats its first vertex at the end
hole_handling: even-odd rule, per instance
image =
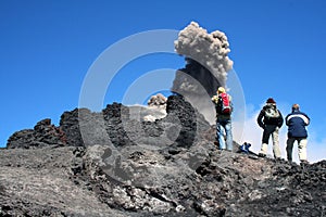
POLYGON ((226 93, 223 87, 220 87, 213 95, 212 101, 216 108, 216 141, 220 150, 233 151, 233 132, 231 132, 231 97, 226 93), (226 141, 224 137, 226 133, 226 141))

